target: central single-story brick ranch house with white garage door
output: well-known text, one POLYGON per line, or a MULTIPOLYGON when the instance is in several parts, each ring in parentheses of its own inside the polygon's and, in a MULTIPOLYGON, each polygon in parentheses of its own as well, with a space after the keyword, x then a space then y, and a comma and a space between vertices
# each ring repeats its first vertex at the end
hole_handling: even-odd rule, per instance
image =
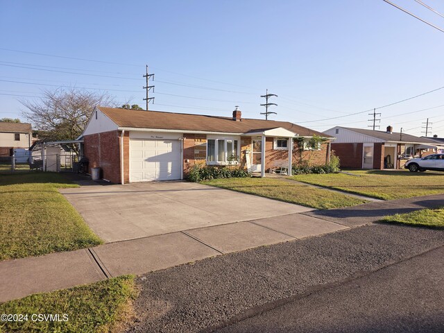
MULTIPOLYGON (((89 169, 116 183, 178 180, 195 164, 236 164, 265 172, 278 163, 325 164, 330 144, 298 148, 295 137, 332 139, 286 121, 97 107, 80 138, 89 169), (291 149, 293 148, 293 149, 291 149)), ((291 168, 290 168, 291 169, 291 168)))

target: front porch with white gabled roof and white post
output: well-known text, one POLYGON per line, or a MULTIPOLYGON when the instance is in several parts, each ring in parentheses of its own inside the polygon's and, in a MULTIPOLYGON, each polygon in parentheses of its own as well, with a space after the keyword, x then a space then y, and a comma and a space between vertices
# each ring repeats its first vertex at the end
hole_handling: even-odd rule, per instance
POLYGON ((298 137, 298 134, 285 128, 246 133, 243 140, 243 152, 245 153, 246 168, 253 177, 284 174, 283 169, 286 170, 285 173, 288 176, 291 176, 294 137, 298 137))

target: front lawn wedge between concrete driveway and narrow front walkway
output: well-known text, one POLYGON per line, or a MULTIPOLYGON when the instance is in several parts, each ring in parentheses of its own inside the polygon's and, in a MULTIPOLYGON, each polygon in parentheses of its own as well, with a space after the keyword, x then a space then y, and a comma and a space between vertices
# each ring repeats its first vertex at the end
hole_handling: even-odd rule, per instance
POLYGON ((318 210, 350 207, 366 203, 366 200, 353 198, 345 194, 316 189, 297 182, 273 178, 225 178, 202 182, 205 185, 232 189, 233 191, 255 194, 287 203, 296 203, 318 210))

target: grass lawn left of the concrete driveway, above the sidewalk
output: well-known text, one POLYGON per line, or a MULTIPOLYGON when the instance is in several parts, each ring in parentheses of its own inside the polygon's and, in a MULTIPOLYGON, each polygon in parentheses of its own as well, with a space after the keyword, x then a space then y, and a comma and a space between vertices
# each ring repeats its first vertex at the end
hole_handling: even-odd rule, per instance
POLYGON ((0 260, 101 244, 60 188, 77 187, 59 173, 0 176, 0 260))

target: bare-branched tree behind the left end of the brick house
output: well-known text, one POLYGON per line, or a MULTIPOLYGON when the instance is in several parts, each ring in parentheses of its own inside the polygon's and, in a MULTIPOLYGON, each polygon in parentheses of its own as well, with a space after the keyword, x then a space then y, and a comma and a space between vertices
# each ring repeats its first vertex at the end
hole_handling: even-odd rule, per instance
POLYGON ((73 140, 82 134, 96 105, 115 106, 108 94, 83 89, 46 90, 38 100, 21 101, 23 116, 47 140, 73 140))

